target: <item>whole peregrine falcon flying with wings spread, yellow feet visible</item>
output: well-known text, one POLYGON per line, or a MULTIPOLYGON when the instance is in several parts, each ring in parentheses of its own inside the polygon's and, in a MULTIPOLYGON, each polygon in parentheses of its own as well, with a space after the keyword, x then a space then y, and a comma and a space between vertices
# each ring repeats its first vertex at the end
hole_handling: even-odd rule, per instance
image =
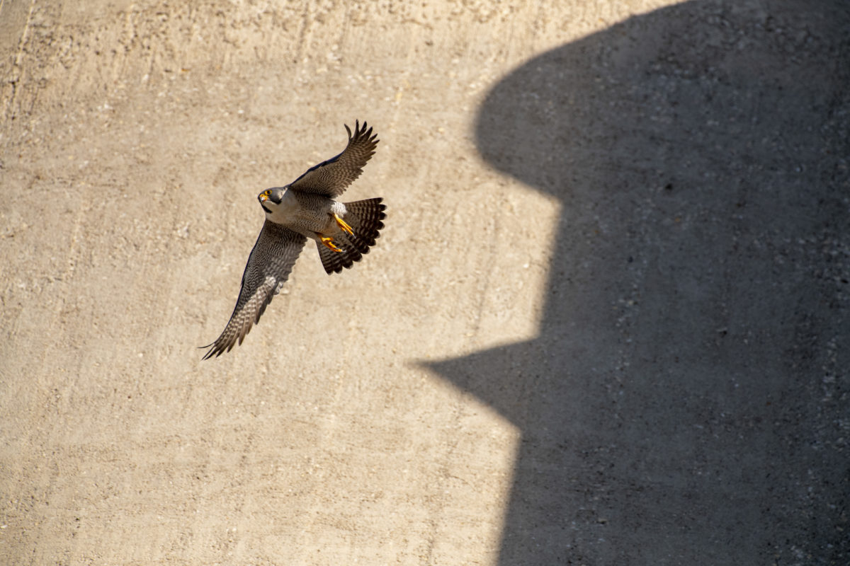
POLYGON ((348 132, 343 153, 310 167, 301 177, 286 185, 259 193, 265 223, 248 256, 239 299, 224 332, 212 344, 204 360, 229 351, 251 327, 258 323, 272 297, 280 292, 286 277, 307 238, 319 249, 325 271, 341 272, 360 261, 375 245, 383 228, 382 198, 342 203, 335 200, 375 154, 378 140, 366 123, 354 122, 354 135, 348 132), (212 346, 212 347, 211 347, 212 346))

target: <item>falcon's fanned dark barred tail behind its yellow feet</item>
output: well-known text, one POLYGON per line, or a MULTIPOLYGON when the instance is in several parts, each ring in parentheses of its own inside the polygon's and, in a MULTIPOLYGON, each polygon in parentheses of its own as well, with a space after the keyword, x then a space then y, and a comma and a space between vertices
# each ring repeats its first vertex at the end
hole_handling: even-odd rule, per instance
POLYGON ((382 220, 386 217, 384 210, 387 208, 381 204, 383 199, 357 200, 345 204, 345 217, 343 218, 354 232, 354 236, 341 233, 334 236, 333 242, 343 251, 333 251, 326 246, 316 243, 319 249, 321 265, 328 273, 341 272, 343 267, 349 268, 354 261, 363 259, 363 254, 369 253, 369 248, 375 245, 375 238, 380 236, 383 228, 382 220))

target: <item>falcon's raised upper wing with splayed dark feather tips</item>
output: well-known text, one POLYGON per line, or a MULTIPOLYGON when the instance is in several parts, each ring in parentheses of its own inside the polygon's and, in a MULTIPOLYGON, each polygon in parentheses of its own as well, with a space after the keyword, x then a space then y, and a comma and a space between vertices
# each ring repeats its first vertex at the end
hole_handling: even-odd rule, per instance
POLYGON ((360 127, 359 121, 354 122, 354 135, 348 132, 348 146, 343 153, 322 161, 319 165, 310 167, 306 173, 293 181, 289 188, 304 193, 323 194, 326 197, 337 197, 342 194, 354 179, 360 177, 363 167, 372 155, 379 140, 377 134, 372 134, 371 128, 366 129, 366 123, 360 127))

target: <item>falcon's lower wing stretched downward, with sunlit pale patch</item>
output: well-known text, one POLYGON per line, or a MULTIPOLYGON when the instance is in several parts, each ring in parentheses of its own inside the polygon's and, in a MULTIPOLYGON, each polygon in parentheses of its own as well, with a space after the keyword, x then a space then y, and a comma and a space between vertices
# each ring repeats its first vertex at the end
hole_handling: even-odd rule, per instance
POLYGON ((303 235, 292 232, 289 228, 265 221, 257 243, 248 257, 245 272, 242 273, 239 299, 236 300, 236 306, 227 326, 224 327, 224 332, 212 344, 201 346, 212 346, 203 357, 204 360, 229 351, 237 339, 239 344, 242 344, 245 335, 260 321, 265 307, 280 291, 286 277, 289 277, 306 240, 303 235))

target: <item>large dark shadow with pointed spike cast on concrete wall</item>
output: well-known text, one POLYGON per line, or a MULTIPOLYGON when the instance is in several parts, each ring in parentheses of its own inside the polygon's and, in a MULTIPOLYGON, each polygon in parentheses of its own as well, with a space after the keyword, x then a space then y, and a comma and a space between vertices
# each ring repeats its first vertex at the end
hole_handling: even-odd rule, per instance
POLYGON ((691 2, 493 87, 545 314, 429 367, 522 431, 501 564, 850 563, 848 56, 847 3, 691 2))

